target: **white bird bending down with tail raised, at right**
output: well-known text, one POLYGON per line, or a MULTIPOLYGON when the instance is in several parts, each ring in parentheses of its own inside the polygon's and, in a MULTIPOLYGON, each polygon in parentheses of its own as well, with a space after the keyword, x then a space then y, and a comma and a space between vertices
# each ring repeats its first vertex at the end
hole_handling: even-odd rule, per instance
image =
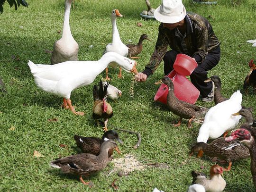
MULTIPOLYGON (((218 103, 210 108, 204 117, 201 125, 197 142, 207 142, 210 139, 216 139, 222 134, 227 134, 238 125, 241 116, 232 116, 239 111, 242 102, 242 94, 238 90, 234 92, 229 100, 218 103)), ((225 136, 225 135, 224 135, 225 136)))

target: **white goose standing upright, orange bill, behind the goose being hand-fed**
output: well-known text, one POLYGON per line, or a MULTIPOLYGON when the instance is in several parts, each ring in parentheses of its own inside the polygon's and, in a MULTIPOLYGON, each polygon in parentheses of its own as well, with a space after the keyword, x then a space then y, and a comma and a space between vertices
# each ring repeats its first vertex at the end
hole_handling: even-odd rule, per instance
MULTIPOLYGON (((112 10, 112 14, 111 14, 111 22, 112 22, 112 43, 108 44, 106 46, 106 50, 104 51, 103 54, 113 51, 116 52, 118 54, 120 54, 121 56, 127 57, 128 55, 128 47, 121 41, 120 36, 119 36, 119 32, 118 32, 118 28, 117 28, 117 23, 116 23, 116 18, 117 17, 123 17, 120 13, 118 9, 114 9, 112 10)), ((116 63, 110 63, 111 67, 117 67, 116 63)), ((109 76, 108 76, 108 71, 109 68, 106 68, 106 79, 110 80, 109 76)), ((121 68, 119 68, 119 75, 118 77, 121 78, 122 77, 122 73, 121 73, 121 68)))

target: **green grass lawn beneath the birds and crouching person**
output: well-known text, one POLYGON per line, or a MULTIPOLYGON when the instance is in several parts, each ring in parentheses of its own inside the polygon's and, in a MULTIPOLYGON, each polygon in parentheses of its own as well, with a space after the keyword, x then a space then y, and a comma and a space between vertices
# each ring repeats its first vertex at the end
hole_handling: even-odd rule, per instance
MULTIPOLYGON (((209 174, 213 164, 210 159, 188 157, 201 125, 192 123, 193 128, 188 129, 187 120, 183 120, 182 125, 175 128, 173 125, 179 117, 153 100, 158 89, 154 83, 163 76, 163 64, 146 83, 134 84, 134 95, 130 92, 133 75, 124 72, 124 78, 118 79, 118 69, 110 69, 112 84, 122 90, 123 95, 118 102, 110 101, 114 116, 109 123, 137 131, 142 136, 141 145, 135 150, 136 136, 119 132, 124 141, 123 145, 119 145, 122 154, 114 153, 113 158, 132 154, 145 165, 167 163, 168 169, 149 167, 119 177, 117 173, 109 175, 113 169, 113 163, 110 163, 99 174, 89 178, 94 184, 89 189, 79 182, 78 177, 61 174, 50 167, 49 161, 59 155, 64 157, 77 152, 73 147, 74 134, 101 137, 103 132, 92 119, 94 83, 74 90, 71 95, 76 110, 86 113, 83 117, 61 109, 61 98, 37 88, 27 61, 50 63, 50 54, 46 50, 52 50, 54 42, 61 37, 61 33, 57 32, 62 30, 64 0, 27 2, 28 8, 21 6, 17 11, 5 3, 4 12, 0 15, 0 77, 8 92, 0 98, 0 191, 114 191, 111 183, 117 179, 119 191, 151 192, 157 187, 165 192, 185 192, 192 182, 192 170, 209 174), (58 120, 48 121, 53 118, 58 120), (60 143, 68 147, 61 148, 60 143), (33 157, 34 150, 45 157, 33 157)), ((156 8, 160 2, 151 0, 152 7, 156 8)), ((219 65, 209 72, 209 76, 219 75, 225 97, 240 89, 243 93, 242 104, 256 108, 252 90, 249 95, 244 95, 243 91, 243 81, 249 71, 248 62, 256 58, 256 48, 246 42, 256 39, 256 1, 218 0, 214 6, 193 4, 191 0, 183 0, 183 3, 187 11, 209 19, 221 42, 219 65)), ((137 43, 142 33, 152 40, 144 42, 144 49, 137 59, 138 71, 142 71, 154 50, 159 25, 155 20, 140 17, 140 12, 146 9, 144 0, 97 0, 97 3, 76 0, 75 8, 71 10, 70 25, 80 47, 79 60, 101 58, 105 46, 111 42, 110 12, 114 8, 118 8, 124 16, 117 20, 124 43, 128 44, 129 40, 137 43), (142 26, 138 27, 137 22, 142 26), (93 47, 89 48, 90 45, 93 47)), ((99 75, 95 83, 103 77, 105 73, 99 75)), ((200 100, 196 104, 208 108, 214 105, 213 102, 200 100)), ((231 171, 225 172, 224 178, 227 182, 225 192, 255 190, 250 159, 233 162, 231 171)))

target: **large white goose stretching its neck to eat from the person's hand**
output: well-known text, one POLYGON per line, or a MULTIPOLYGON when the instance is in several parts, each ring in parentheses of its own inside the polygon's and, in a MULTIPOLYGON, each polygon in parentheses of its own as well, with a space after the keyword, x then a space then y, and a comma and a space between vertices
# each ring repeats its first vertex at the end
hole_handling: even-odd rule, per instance
POLYGON ((127 72, 137 74, 136 61, 115 52, 106 53, 98 61, 66 61, 55 65, 35 65, 32 61, 28 61, 27 64, 39 88, 63 97, 65 109, 70 109, 75 115, 84 115, 83 112, 76 112, 73 108, 70 100, 71 92, 92 83, 110 62, 117 63, 127 72))

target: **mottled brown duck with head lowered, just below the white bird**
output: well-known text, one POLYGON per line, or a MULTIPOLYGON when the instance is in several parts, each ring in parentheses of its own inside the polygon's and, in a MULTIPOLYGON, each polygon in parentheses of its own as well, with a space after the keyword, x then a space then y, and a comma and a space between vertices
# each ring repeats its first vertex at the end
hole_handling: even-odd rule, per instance
POLYGON ((229 163, 228 171, 231 168, 233 160, 250 157, 249 150, 238 140, 226 142, 225 137, 215 139, 213 142, 210 142, 210 144, 198 142, 192 146, 190 156, 192 156, 194 152, 198 152, 197 157, 202 157, 204 153, 209 157, 218 157, 219 159, 226 160, 229 163))

